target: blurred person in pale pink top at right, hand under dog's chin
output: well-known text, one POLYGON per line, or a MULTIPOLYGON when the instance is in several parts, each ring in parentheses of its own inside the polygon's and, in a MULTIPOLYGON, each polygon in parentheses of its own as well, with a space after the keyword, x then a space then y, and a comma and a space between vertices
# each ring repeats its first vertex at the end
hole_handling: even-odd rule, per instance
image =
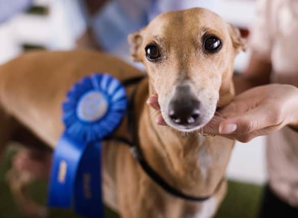
MULTIPOLYGON (((268 135, 262 218, 298 217, 297 38, 298 1, 259 0, 250 64, 234 80, 238 95, 204 127, 205 133, 242 142, 268 135)), ((158 109, 158 96, 147 103, 158 109)), ((156 122, 165 125, 161 115, 156 122)))

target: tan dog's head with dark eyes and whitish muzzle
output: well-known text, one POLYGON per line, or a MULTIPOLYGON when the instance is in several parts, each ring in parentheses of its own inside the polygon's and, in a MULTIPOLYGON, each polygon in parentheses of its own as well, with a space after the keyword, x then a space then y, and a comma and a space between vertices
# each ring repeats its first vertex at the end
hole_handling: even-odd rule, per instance
POLYGON ((131 57, 145 65, 169 126, 183 132, 200 129, 217 105, 233 98, 234 58, 244 40, 217 14, 203 8, 163 13, 130 34, 129 42, 131 57))

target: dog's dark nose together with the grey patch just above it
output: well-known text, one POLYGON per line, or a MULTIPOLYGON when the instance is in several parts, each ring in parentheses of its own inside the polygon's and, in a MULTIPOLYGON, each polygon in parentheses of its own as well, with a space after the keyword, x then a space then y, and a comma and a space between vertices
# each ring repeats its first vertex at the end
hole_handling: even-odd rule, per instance
POLYGON ((175 98, 169 103, 168 116, 173 123, 195 126, 200 119, 200 101, 191 96, 188 86, 176 89, 175 98))

